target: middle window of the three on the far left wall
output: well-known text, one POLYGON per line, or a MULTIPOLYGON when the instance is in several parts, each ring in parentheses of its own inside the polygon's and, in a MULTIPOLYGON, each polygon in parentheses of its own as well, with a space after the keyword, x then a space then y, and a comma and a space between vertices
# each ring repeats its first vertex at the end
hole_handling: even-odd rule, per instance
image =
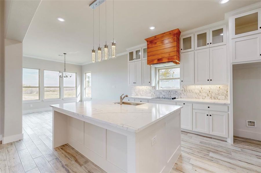
POLYGON ((44 70, 44 99, 60 98, 59 71, 44 70))

